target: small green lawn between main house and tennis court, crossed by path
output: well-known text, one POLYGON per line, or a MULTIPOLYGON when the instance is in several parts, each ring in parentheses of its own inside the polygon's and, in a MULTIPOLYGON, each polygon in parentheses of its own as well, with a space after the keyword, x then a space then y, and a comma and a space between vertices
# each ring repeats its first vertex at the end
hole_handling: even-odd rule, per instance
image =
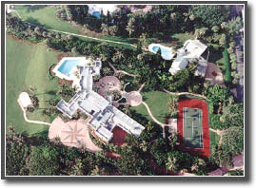
MULTIPOLYGON (((150 108, 153 116, 159 122, 165 122, 165 116, 168 112, 168 99, 169 94, 163 91, 149 91, 146 93, 142 93, 144 102, 148 103, 148 107, 150 108)), ((144 104, 140 104, 139 106, 131 107, 137 113, 141 114, 143 117, 147 118, 149 121, 152 119, 148 115, 148 111, 144 104)))

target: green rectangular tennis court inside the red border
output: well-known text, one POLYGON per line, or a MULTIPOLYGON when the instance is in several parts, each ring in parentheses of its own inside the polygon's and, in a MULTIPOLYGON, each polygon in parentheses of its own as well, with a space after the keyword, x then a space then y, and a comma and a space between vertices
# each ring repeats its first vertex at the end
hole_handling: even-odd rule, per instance
POLYGON ((202 109, 183 108, 184 145, 189 148, 203 148, 202 109))

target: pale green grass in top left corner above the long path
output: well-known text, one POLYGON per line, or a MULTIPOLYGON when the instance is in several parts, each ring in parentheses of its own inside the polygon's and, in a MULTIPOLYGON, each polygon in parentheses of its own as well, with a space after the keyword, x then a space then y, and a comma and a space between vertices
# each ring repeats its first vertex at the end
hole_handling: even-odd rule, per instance
POLYGON ((57 8, 55 7, 47 6, 42 9, 29 10, 26 6, 16 5, 15 9, 24 21, 30 22, 31 24, 42 26, 44 28, 52 28, 80 34, 79 28, 72 26, 67 21, 60 20, 55 16, 57 11, 57 8))

